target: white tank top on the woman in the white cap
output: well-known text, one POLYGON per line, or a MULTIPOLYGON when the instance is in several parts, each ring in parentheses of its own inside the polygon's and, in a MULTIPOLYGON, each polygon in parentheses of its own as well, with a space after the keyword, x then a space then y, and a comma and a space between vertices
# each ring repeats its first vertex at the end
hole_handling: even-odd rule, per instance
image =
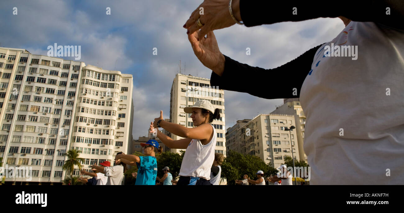
MULTIPOLYGON (((209 123, 210 124, 210 123, 209 123)), ((215 160, 216 130, 212 124, 213 137, 206 145, 202 145, 200 140, 192 139, 185 150, 182 159, 180 176, 204 178, 210 180, 210 167, 215 160)))

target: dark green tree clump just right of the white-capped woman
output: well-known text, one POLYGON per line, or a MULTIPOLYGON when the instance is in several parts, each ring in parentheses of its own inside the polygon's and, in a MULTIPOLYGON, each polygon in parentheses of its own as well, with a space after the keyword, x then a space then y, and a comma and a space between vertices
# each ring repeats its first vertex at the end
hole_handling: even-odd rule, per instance
POLYGON ((271 163, 266 164, 257 156, 243 155, 238 152, 228 151, 227 157, 222 163, 222 178, 227 179, 228 185, 234 185, 234 180, 241 180, 243 175, 248 175, 252 180, 257 179, 258 170, 264 172, 266 179, 271 174, 276 174, 277 170, 271 166, 271 163))

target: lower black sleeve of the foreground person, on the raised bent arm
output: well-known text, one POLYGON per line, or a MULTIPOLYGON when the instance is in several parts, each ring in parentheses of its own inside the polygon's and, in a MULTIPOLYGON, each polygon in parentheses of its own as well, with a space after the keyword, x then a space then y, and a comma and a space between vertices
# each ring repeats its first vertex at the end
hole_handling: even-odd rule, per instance
POLYGON ((212 72, 210 84, 218 89, 247 92, 260 98, 299 98, 303 81, 321 45, 274 69, 251 67, 225 56, 223 75, 212 72), (288 78, 287 81, 282 80, 285 77, 288 78), (296 95, 293 94, 294 91, 296 95))

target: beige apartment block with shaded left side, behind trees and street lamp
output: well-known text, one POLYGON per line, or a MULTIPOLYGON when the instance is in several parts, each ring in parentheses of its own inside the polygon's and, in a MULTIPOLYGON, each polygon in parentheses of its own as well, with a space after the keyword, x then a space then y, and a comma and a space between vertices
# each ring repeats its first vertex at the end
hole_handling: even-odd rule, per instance
POLYGON ((286 156, 299 159, 296 149, 296 129, 284 131, 285 127, 295 126, 292 115, 260 114, 253 119, 239 120, 228 128, 226 133, 227 150, 258 156, 265 163, 278 168, 286 156), (291 139, 290 139, 291 138, 291 139))

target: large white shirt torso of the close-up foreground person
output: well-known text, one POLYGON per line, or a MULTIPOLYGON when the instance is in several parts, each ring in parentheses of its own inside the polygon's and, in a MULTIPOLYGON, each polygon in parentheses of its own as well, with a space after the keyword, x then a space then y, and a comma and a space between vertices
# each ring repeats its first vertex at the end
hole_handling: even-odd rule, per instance
POLYGON ((403 31, 355 21, 317 51, 300 93, 310 184, 402 184, 403 56, 403 31), (357 60, 323 57, 330 43, 358 46, 357 60))

